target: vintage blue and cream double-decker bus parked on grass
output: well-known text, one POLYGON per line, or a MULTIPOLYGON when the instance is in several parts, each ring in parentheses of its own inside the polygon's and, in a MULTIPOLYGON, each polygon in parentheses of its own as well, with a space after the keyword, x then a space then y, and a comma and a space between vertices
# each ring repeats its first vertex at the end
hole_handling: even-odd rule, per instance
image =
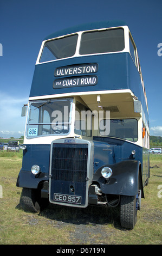
POLYGON ((149 178, 149 123, 126 23, 88 23, 43 40, 21 148, 24 210, 118 206, 121 226, 134 228, 149 178))

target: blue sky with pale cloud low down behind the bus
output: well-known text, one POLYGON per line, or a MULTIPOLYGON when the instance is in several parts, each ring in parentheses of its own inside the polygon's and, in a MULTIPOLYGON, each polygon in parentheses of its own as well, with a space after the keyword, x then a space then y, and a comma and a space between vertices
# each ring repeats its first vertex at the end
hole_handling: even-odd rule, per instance
POLYGON ((122 20, 137 46, 150 117, 150 135, 162 136, 161 0, 0 0, 0 137, 24 135, 42 40, 86 22, 122 20))

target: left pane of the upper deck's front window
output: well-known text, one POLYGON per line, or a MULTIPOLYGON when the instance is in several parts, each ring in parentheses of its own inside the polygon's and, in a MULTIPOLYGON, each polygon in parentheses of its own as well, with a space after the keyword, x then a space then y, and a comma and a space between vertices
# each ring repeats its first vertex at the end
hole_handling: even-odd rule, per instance
POLYGON ((77 34, 47 41, 40 62, 72 57, 76 51, 77 34))

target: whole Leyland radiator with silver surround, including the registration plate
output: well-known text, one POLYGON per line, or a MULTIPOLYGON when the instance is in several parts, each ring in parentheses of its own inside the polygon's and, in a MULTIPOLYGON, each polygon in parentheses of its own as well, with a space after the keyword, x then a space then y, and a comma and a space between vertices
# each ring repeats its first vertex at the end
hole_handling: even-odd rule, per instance
POLYGON ((58 139, 51 143, 49 201, 86 208, 93 177, 94 144, 83 139, 58 139))

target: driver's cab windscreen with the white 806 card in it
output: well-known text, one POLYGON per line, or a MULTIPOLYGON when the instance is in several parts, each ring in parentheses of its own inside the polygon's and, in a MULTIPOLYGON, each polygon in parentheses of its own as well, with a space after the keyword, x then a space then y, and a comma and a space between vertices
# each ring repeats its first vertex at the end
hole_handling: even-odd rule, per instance
POLYGON ((67 135, 70 130, 72 99, 30 103, 27 137, 67 135))

